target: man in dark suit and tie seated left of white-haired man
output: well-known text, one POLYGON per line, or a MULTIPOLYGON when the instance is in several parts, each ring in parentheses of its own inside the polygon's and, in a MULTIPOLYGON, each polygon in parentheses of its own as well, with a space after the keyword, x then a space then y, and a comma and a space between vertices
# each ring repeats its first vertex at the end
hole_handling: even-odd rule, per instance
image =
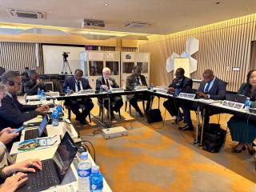
MULTIPOLYGON (((64 82, 64 91, 66 92, 67 87, 70 87, 70 92, 78 92, 80 90, 89 90, 91 89, 89 81, 86 78, 82 78, 82 70, 75 70, 74 77, 66 78, 64 82)), ((86 124, 85 118, 90 114, 90 110, 94 108, 94 103, 90 98, 82 99, 70 99, 65 105, 70 105, 70 109, 76 115, 76 120, 82 124, 86 124), (84 105, 85 108, 82 110, 82 113, 79 111, 79 106, 84 105)))

